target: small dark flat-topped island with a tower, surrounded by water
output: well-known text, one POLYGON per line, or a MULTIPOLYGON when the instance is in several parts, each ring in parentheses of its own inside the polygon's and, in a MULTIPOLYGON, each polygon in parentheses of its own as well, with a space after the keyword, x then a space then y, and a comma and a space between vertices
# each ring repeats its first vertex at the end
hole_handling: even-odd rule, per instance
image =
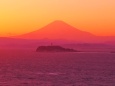
POLYGON ((37 52, 77 52, 74 49, 63 48, 61 46, 39 46, 37 52))

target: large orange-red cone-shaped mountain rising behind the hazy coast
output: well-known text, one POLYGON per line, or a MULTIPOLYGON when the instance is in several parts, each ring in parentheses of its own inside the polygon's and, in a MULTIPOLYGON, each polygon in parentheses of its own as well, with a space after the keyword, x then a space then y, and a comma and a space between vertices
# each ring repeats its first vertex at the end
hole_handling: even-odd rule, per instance
POLYGON ((86 42, 93 41, 95 35, 89 32, 81 31, 63 21, 57 20, 37 31, 23 34, 17 37, 24 39, 64 39, 86 42))

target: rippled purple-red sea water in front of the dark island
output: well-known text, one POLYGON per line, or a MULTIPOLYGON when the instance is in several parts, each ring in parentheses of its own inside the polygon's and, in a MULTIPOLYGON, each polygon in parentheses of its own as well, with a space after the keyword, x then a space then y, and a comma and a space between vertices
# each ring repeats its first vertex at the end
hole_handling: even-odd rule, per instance
POLYGON ((115 54, 0 51, 0 86, 115 86, 115 54))

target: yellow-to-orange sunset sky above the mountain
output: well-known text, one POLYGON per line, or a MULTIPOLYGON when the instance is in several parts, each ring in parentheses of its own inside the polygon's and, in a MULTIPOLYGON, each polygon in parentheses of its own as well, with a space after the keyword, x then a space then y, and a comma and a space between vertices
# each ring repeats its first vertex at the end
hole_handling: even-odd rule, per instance
POLYGON ((115 36, 115 0, 0 0, 0 36, 31 32, 55 20, 115 36))

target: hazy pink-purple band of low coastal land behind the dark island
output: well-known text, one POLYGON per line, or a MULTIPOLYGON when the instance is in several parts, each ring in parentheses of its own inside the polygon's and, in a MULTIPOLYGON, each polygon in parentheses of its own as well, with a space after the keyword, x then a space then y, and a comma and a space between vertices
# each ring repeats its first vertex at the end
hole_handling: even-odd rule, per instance
POLYGON ((92 52, 92 51, 103 51, 111 52, 115 51, 115 44, 112 42, 100 42, 100 43, 82 43, 73 42, 69 40, 50 40, 50 39, 21 39, 21 38, 8 38, 0 37, 0 49, 21 49, 21 50, 33 50, 41 45, 55 44, 63 46, 64 48, 72 48, 82 52, 92 52))

